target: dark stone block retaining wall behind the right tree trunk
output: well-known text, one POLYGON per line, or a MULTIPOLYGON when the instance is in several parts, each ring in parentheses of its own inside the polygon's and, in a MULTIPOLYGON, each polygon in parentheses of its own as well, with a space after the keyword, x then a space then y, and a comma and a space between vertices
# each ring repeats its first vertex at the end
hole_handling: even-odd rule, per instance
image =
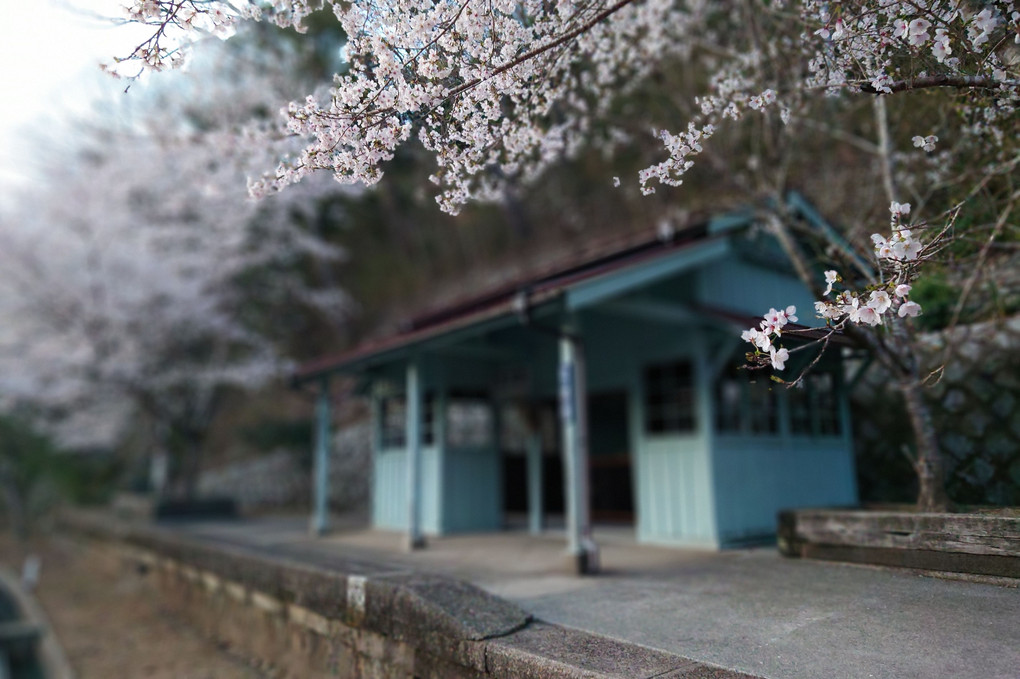
MULTIPOLYGON (((1020 506, 1020 316, 923 338, 950 499, 1020 506)), ((862 500, 912 502, 906 411, 873 366, 852 395, 862 500)))

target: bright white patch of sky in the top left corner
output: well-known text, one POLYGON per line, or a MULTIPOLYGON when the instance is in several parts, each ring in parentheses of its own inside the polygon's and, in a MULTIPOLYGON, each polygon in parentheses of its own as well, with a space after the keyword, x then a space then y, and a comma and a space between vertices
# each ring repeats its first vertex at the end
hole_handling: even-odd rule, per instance
POLYGON ((117 27, 99 18, 122 15, 123 1, 0 0, 4 193, 27 180, 33 147, 52 139, 59 120, 90 109, 98 83, 109 77, 99 71, 99 63, 137 44, 140 27, 117 27))

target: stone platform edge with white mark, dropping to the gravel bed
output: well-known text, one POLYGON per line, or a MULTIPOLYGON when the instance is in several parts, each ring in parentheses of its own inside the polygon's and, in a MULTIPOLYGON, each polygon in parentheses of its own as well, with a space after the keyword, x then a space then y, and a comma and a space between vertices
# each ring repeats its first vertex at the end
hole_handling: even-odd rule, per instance
POLYGON ((102 515, 62 524, 154 575, 177 616, 288 676, 753 679, 538 622, 467 582, 389 564, 319 568, 102 515))

